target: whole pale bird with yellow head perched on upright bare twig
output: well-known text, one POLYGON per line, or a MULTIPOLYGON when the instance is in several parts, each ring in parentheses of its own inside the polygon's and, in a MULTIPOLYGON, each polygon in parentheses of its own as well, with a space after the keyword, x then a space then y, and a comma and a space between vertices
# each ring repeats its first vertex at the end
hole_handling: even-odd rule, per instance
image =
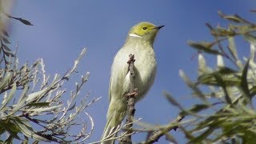
POLYGON ((135 102, 141 100, 154 83, 157 62, 154 54, 154 39, 163 26, 155 26, 150 22, 139 22, 132 26, 125 44, 114 57, 111 67, 109 100, 110 105, 106 114, 106 126, 102 134, 102 144, 113 144, 115 134, 110 132, 121 124, 126 117, 127 96, 129 93, 130 71, 127 61, 129 54, 134 54, 134 86, 137 88, 135 102), (111 130, 112 129, 112 130, 111 130))

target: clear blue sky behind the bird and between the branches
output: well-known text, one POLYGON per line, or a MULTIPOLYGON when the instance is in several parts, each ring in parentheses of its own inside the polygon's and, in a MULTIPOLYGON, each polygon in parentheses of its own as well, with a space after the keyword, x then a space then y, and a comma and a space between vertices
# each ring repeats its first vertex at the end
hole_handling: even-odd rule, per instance
MULTIPOLYGON (((166 124, 178 115, 178 110, 162 96, 163 90, 170 92, 183 106, 193 105, 190 90, 178 76, 182 69, 194 79, 197 76, 197 58, 191 60, 195 50, 187 46, 188 40, 212 40, 205 23, 226 26, 217 11, 224 14, 240 14, 254 19, 254 0, 214 1, 94 1, 94 0, 23 0, 14 1, 12 14, 34 24, 24 26, 20 22, 10 23, 12 42, 19 43, 20 63, 34 62, 43 58, 48 74, 64 74, 77 58, 83 47, 86 56, 78 66, 80 74, 90 71, 89 82, 82 93, 91 97, 102 97, 86 111, 94 118, 94 134, 87 142, 95 142, 102 135, 108 107, 110 66, 114 55, 126 40, 131 26, 142 21, 165 25, 158 33, 154 50, 158 61, 158 73, 150 92, 136 104, 136 117, 154 124, 166 124)), ((249 47, 246 47, 249 50, 249 47)), ((246 50, 241 50, 246 56, 246 50)), ((208 59, 215 62, 215 59, 208 59)), ((74 88, 73 83, 70 90, 74 88)), ((82 98, 82 97, 80 97, 82 98)), ((178 142, 184 142, 181 132, 171 131, 178 142)), ((134 136, 142 141, 144 135, 134 136)), ((165 143, 164 138, 161 143, 165 143)))

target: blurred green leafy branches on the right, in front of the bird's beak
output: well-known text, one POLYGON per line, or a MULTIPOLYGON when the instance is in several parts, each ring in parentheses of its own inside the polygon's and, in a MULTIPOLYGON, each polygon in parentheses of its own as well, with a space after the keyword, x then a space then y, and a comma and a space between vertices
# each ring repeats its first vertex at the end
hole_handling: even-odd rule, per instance
POLYGON ((238 14, 226 15, 220 11, 218 14, 229 25, 214 27, 206 23, 214 37, 213 42, 188 42, 198 50, 197 80, 191 81, 180 70, 181 78, 200 102, 186 109, 166 92, 166 99, 178 107, 180 114, 173 122, 163 126, 134 120, 134 124, 141 127, 133 128, 134 133, 148 134, 141 143, 157 142, 163 136, 167 141, 178 143, 169 133, 177 128, 185 134, 188 143, 256 142, 256 110, 253 101, 256 94, 256 23, 238 14), (238 38, 243 38, 250 45, 249 58, 242 60, 238 55, 235 44, 238 38), (217 58, 217 66, 207 66, 206 56, 217 58))

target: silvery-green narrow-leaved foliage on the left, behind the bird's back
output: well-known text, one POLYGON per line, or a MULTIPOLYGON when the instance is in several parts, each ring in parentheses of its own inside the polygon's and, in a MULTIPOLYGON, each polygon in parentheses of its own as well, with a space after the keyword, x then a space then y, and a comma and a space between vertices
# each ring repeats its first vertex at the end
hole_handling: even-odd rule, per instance
MULTIPOLYGON (((2 2, 2 1, 1 1, 2 2)), ((86 53, 83 49, 74 66, 64 75, 55 74, 54 78, 46 74, 42 58, 32 65, 18 64, 17 48, 10 49, 9 34, 3 25, 3 17, 32 24, 23 19, 6 14, 1 6, 0 19, 0 142, 23 143, 45 142, 84 142, 94 129, 94 121, 84 110, 97 102, 99 98, 89 98, 89 94, 80 94, 82 86, 89 78, 89 72, 81 76, 81 82, 75 83, 75 90, 66 90, 65 83, 76 71, 78 63, 86 53), (70 96, 66 95, 70 91, 70 96), (83 101, 78 102, 77 97, 83 101), (67 102, 65 99, 69 99, 67 102), (86 115, 89 124, 78 115, 86 115), (77 134, 70 130, 76 129, 77 134)))

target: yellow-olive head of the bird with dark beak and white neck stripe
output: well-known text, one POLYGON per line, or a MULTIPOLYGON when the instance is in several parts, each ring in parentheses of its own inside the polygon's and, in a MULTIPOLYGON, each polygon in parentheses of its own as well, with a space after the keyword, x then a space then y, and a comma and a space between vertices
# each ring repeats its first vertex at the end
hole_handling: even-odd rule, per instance
POLYGON ((140 22, 130 29, 128 38, 138 38, 153 44, 158 30, 162 27, 163 26, 155 26, 150 22, 140 22))

